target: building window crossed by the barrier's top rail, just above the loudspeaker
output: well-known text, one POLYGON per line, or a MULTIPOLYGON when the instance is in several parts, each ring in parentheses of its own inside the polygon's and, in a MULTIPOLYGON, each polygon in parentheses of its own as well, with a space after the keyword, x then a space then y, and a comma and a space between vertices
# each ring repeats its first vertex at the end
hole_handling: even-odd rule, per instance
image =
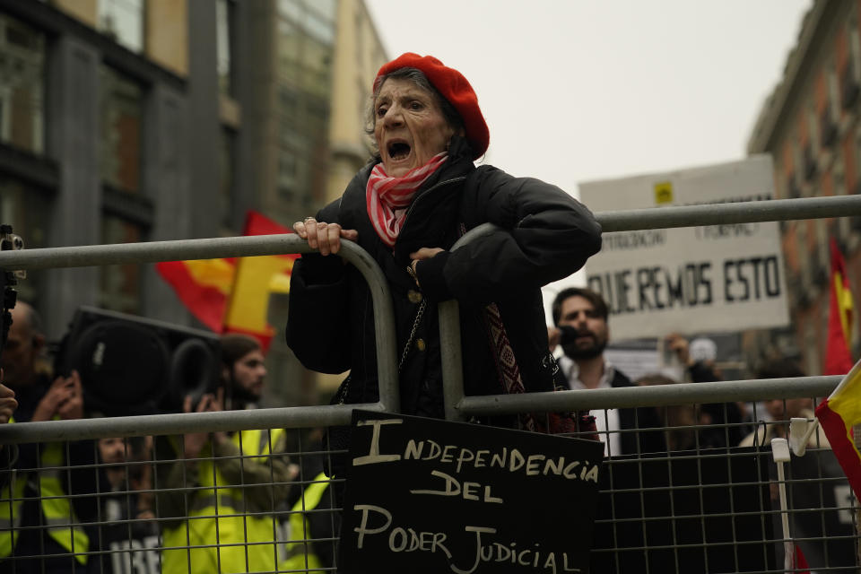
MULTIPOLYGON (((102 215, 102 243, 136 243, 142 239, 143 231, 139 225, 109 213, 102 215)), ((141 266, 132 263, 101 267, 99 304, 103 309, 139 314, 141 266)))

